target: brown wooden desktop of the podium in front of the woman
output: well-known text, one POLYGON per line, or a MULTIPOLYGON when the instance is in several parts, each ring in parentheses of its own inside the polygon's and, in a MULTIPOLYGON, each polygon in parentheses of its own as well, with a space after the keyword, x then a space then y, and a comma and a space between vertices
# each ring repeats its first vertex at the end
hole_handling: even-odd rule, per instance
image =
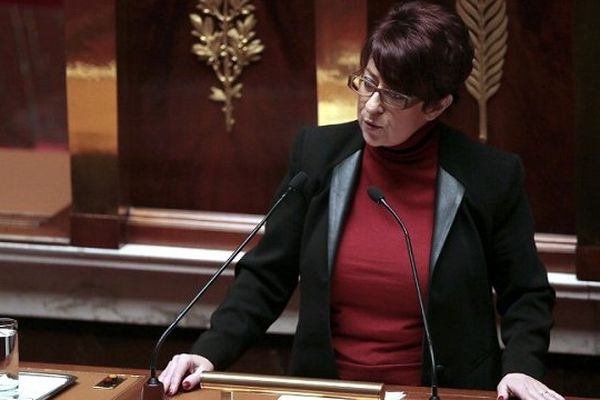
MULTIPOLYGON (((83 365, 64 365, 46 363, 21 363, 23 372, 60 373, 75 376, 76 382, 61 391, 52 399, 56 400, 140 400, 142 386, 148 378, 147 370, 92 367, 83 365), (127 379, 115 389, 94 389, 93 386, 108 375, 117 374, 127 379)), ((403 391, 406 400, 428 400, 430 389, 428 387, 397 387, 386 386, 386 391, 403 391)), ((496 400, 496 393, 492 391, 439 389, 442 400, 496 400)), ((194 390, 179 393, 172 397, 173 400, 276 400, 276 394, 240 393, 232 396, 222 396, 217 390, 194 390)), ((328 396, 332 397, 332 396, 328 396)), ((568 400, 584 400, 578 397, 567 397, 568 400)))

